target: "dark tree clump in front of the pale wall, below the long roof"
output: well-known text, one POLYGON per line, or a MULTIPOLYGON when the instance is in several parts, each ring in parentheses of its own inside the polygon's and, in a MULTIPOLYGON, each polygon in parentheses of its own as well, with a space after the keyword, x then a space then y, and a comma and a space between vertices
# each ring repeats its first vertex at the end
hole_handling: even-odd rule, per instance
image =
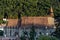
POLYGON ((30 32, 23 31, 23 35, 20 37, 21 40, 35 40, 36 32, 34 25, 30 28, 30 32))

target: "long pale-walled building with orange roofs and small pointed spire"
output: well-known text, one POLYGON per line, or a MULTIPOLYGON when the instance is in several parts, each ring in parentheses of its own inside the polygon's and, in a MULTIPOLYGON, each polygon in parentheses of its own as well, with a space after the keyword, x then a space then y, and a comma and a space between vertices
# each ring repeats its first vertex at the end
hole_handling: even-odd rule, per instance
POLYGON ((29 35, 30 28, 33 24, 35 27, 36 37, 39 35, 51 35, 55 31, 54 14, 52 7, 48 16, 38 17, 21 17, 20 19, 3 19, 7 21, 6 24, 0 25, 0 30, 3 31, 4 38, 11 38, 11 40, 21 37, 23 31, 29 35))

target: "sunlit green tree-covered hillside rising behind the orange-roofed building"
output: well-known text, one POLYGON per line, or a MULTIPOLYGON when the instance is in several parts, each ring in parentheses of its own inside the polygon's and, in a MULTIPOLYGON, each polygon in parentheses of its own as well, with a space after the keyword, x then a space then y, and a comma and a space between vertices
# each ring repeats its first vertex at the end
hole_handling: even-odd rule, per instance
POLYGON ((0 0, 0 18, 21 16, 46 16, 52 5, 55 16, 60 16, 60 0, 0 0))

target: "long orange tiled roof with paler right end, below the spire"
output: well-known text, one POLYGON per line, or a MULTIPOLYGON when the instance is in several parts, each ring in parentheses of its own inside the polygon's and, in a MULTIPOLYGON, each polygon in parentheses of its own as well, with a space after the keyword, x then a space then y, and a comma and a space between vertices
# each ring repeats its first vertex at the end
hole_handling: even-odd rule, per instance
POLYGON ((51 17, 22 17, 22 24, 34 24, 34 25, 54 25, 54 19, 51 17))

